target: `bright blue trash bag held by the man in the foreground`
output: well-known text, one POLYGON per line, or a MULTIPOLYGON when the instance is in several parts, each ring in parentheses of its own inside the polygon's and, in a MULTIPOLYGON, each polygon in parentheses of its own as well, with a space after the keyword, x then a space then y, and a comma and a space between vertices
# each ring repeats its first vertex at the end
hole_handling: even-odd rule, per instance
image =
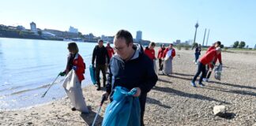
POLYGON ((141 106, 137 89, 129 91, 125 87, 115 87, 113 101, 107 106, 103 126, 140 126, 141 106))

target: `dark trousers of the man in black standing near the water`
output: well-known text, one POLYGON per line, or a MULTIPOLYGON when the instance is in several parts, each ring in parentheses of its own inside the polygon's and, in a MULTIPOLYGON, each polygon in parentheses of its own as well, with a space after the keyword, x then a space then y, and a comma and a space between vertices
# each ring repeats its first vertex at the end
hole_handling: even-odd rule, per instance
POLYGON ((100 87, 100 71, 102 72, 102 76, 104 77, 104 87, 106 86, 106 65, 96 65, 96 80, 97 85, 100 87))

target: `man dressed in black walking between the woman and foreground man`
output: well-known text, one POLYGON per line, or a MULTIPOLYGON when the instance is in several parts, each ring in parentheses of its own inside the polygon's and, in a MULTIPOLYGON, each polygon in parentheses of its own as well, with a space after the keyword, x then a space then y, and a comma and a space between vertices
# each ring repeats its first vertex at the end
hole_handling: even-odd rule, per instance
POLYGON ((109 63, 109 56, 107 54, 107 49, 103 45, 104 41, 100 39, 98 45, 95 46, 92 53, 92 65, 94 66, 94 61, 96 59, 96 81, 97 81, 97 91, 100 91, 100 71, 104 78, 104 87, 106 87, 106 65, 109 63), (107 57, 107 61, 106 61, 107 57))

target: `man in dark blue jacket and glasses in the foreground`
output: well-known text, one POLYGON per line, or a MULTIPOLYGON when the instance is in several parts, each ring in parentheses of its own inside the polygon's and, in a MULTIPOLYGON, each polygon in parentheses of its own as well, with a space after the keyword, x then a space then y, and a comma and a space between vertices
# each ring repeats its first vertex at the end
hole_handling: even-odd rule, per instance
POLYGON ((111 58, 109 64, 107 92, 104 96, 113 95, 116 86, 126 87, 128 90, 137 88, 134 97, 140 97, 141 125, 144 125, 143 116, 147 93, 158 80, 152 61, 143 53, 143 48, 140 45, 134 45, 129 31, 118 31, 115 35, 114 45, 116 54, 111 58))

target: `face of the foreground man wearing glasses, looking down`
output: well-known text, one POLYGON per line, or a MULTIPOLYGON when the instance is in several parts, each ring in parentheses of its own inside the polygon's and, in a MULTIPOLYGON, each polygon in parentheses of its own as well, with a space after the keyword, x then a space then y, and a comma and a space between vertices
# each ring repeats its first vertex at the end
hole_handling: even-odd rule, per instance
POLYGON ((114 49, 117 54, 119 54, 119 57, 121 57, 123 60, 126 60, 130 57, 130 53, 132 53, 133 50, 133 44, 130 43, 128 46, 126 45, 126 39, 115 39, 114 40, 114 49))

